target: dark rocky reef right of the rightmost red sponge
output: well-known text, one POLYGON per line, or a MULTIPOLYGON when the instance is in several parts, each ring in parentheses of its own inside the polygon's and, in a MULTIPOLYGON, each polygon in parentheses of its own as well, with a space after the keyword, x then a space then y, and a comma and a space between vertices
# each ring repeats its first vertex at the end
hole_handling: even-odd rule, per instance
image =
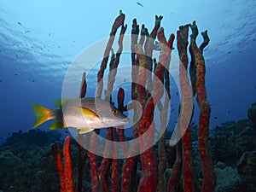
POLYGON ((255 190, 256 126, 250 119, 227 122, 211 133, 217 191, 255 190))

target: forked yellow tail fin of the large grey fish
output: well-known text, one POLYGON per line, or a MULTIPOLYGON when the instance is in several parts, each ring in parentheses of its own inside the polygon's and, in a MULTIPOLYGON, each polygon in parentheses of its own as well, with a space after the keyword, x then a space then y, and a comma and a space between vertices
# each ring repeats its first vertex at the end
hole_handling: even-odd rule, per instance
POLYGON ((44 108, 43 106, 33 102, 32 110, 36 115, 36 122, 32 128, 36 128, 38 125, 43 124, 45 121, 53 119, 53 117, 50 115, 51 110, 49 108, 44 108))

